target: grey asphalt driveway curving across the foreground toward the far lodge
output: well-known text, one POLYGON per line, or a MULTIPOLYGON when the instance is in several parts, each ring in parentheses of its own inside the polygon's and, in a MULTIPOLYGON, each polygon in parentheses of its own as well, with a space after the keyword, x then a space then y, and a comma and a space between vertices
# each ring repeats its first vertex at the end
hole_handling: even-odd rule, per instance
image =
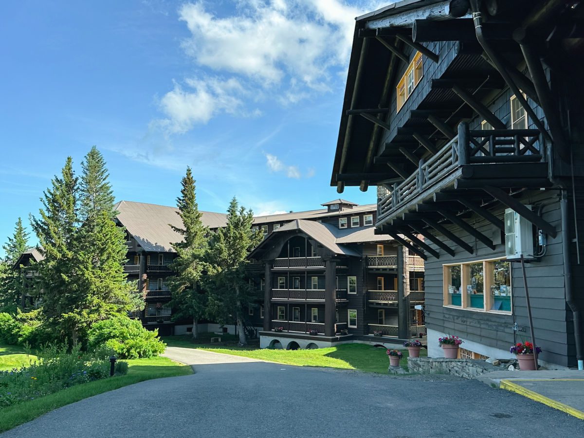
POLYGON ((584 436, 581 420, 478 381, 291 367, 197 350, 168 354, 180 354, 196 374, 96 395, 2 436, 584 436))

